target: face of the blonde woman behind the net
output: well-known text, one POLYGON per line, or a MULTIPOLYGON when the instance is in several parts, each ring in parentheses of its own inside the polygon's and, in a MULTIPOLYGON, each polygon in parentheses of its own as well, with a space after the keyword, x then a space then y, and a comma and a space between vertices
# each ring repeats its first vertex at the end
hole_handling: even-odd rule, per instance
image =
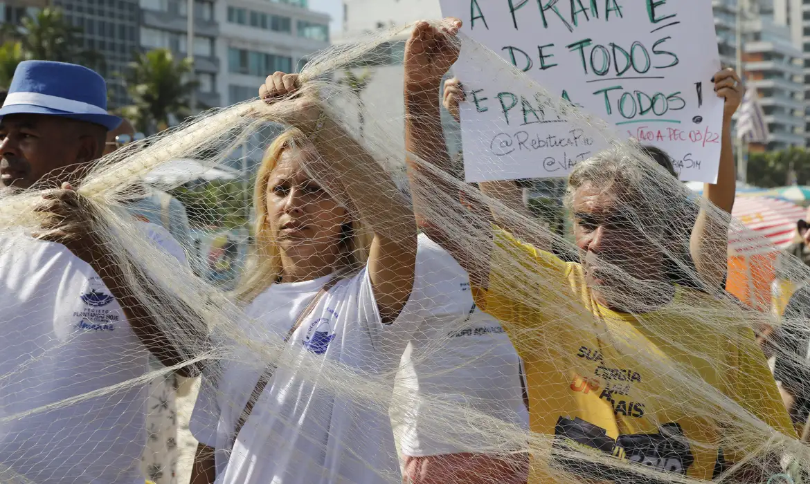
POLYGON ((288 256, 338 255, 348 223, 347 210, 304 171, 313 156, 311 149, 285 149, 267 180, 267 222, 288 256))

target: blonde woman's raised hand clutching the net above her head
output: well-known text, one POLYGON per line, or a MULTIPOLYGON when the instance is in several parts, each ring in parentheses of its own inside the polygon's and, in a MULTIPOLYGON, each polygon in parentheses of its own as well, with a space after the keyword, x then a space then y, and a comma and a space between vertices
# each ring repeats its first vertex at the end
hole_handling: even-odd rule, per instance
POLYGON ((321 113, 320 101, 313 91, 301 87, 298 74, 268 75, 258 88, 258 96, 267 104, 283 104, 286 108, 281 113, 283 121, 305 132, 315 129, 321 113))

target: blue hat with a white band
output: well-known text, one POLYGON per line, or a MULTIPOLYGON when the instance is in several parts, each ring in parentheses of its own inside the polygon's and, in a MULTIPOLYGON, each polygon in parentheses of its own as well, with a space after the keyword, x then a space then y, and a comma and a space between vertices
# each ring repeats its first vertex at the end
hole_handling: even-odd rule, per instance
POLYGON ((107 83, 94 70, 66 62, 23 61, 14 71, 0 117, 45 114, 113 130, 121 118, 107 113, 107 83))

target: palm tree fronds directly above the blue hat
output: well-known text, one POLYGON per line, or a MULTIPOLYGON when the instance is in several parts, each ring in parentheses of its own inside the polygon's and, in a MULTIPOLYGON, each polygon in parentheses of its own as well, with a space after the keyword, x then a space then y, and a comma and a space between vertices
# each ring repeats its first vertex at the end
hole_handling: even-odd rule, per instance
POLYGON ((33 17, 24 17, 22 26, 2 28, 0 38, 16 40, 25 57, 40 61, 73 62, 104 70, 104 57, 81 49, 83 30, 66 21, 62 11, 45 7, 33 17))

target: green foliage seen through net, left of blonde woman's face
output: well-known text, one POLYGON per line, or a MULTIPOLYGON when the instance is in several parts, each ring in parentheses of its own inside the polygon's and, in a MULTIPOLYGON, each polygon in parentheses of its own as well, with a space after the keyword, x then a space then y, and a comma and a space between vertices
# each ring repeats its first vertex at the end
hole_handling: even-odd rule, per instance
POLYGON ((245 192, 241 180, 214 180, 194 188, 180 187, 172 194, 185 205, 192 227, 234 228, 249 222, 252 193, 245 192))

